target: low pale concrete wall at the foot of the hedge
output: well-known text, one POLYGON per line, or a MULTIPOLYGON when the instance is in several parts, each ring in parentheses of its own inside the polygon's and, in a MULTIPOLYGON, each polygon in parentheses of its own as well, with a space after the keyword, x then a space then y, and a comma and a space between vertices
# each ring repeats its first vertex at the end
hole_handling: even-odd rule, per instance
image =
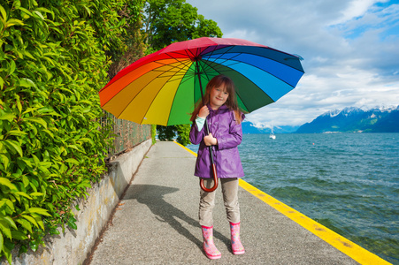
MULTIPOLYGON (((152 140, 146 140, 111 161, 108 174, 88 191, 88 199, 81 200, 79 203, 81 210, 76 211, 75 216, 77 230, 65 229, 63 233, 60 228, 60 235, 47 237, 46 246, 40 246, 35 253, 29 251, 18 257, 14 251, 12 264, 82 264, 151 145, 152 140)), ((2 259, 1 264, 8 264, 8 262, 2 259)))

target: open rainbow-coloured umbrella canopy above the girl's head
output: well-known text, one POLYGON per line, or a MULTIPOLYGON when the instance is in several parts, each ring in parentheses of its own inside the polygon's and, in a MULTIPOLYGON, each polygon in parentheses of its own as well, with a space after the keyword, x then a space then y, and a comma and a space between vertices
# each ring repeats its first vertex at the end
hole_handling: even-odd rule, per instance
POLYGON ((240 39, 176 42, 120 71, 100 90, 101 106, 138 124, 188 124, 200 85, 219 74, 233 79, 239 106, 251 112, 291 91, 303 67, 299 57, 240 39))

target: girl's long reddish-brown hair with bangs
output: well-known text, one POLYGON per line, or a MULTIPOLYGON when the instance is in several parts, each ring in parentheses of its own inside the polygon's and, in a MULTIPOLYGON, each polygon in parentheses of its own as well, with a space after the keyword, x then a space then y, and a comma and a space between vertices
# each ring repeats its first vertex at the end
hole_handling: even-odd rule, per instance
POLYGON ((203 105, 206 105, 210 102, 211 89, 213 87, 222 86, 226 88, 226 92, 228 93, 225 105, 229 110, 234 111, 234 116, 237 124, 241 124, 243 111, 240 110, 240 108, 238 107, 237 97, 235 96, 234 82, 232 79, 223 74, 213 77, 208 82, 205 88, 205 95, 203 95, 203 101, 199 100, 198 102, 196 102, 196 109, 191 114, 191 121, 194 121, 196 119, 196 116, 198 115, 198 112, 203 107, 203 105))

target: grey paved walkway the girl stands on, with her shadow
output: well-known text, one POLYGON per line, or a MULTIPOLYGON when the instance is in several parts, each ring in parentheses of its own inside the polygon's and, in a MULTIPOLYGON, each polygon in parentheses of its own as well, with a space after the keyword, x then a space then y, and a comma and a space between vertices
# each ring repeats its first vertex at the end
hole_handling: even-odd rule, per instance
POLYGON ((242 188, 246 254, 230 250, 218 188, 214 239, 222 257, 209 260, 197 221, 200 187, 193 177, 195 163, 195 156, 173 142, 150 148, 90 264, 358 264, 242 188))

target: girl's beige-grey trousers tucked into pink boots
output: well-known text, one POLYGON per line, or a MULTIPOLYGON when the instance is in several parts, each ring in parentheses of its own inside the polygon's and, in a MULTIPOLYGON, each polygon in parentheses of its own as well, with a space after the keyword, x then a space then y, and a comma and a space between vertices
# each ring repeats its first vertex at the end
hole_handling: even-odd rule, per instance
MULTIPOLYGON (((203 185, 213 186, 212 178, 203 178, 203 185)), ((240 206, 238 204, 238 178, 219 178, 222 187, 223 201, 226 208, 227 221, 240 223, 240 206)), ((215 207, 216 190, 206 193, 201 189, 199 203, 199 223, 202 226, 213 226, 212 209, 215 207)))

